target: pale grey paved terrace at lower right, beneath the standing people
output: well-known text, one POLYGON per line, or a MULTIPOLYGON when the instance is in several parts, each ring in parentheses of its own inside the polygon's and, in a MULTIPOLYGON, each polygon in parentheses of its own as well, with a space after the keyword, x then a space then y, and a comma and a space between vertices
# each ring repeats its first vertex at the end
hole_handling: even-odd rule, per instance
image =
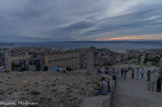
MULTIPOLYGON (((147 90, 146 73, 143 80, 132 80, 130 74, 129 72, 127 79, 118 77, 112 107, 162 107, 162 93, 156 92, 156 84, 153 92, 147 90)), ((155 82, 156 79, 157 76, 152 74, 152 81, 155 82)))

